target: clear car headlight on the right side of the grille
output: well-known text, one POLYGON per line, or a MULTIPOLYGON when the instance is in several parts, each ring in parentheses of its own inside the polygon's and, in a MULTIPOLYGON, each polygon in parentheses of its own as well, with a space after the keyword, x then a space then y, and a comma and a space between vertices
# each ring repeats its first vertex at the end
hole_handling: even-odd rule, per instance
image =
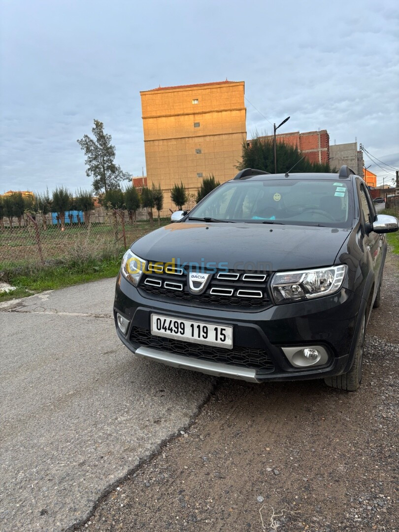
POLYGON ((275 273, 271 281, 273 296, 277 303, 284 303, 335 294, 343 285, 346 270, 347 266, 342 264, 317 270, 275 273))

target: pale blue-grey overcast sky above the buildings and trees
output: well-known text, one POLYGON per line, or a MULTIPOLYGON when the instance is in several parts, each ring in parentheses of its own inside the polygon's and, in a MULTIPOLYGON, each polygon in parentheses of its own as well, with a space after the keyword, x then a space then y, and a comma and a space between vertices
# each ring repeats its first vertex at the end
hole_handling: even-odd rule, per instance
MULTIPOLYGON (((112 135, 115 161, 141 175, 139 91, 226 78, 245 81, 248 137, 290 115, 281 132, 327 129, 331 144, 357 137, 398 168, 397 5, 0 0, 0 193, 90 188, 76 140, 93 119, 112 135)), ((381 183, 394 174, 370 170, 381 183)))

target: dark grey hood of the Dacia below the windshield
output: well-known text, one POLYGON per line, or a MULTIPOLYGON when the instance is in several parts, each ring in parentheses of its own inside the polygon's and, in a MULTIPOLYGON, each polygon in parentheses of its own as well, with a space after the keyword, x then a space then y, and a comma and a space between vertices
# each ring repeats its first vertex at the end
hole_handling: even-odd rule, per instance
POLYGON ((145 260, 205 269, 298 270, 334 264, 349 234, 330 227, 180 222, 145 235, 131 249, 145 260))

